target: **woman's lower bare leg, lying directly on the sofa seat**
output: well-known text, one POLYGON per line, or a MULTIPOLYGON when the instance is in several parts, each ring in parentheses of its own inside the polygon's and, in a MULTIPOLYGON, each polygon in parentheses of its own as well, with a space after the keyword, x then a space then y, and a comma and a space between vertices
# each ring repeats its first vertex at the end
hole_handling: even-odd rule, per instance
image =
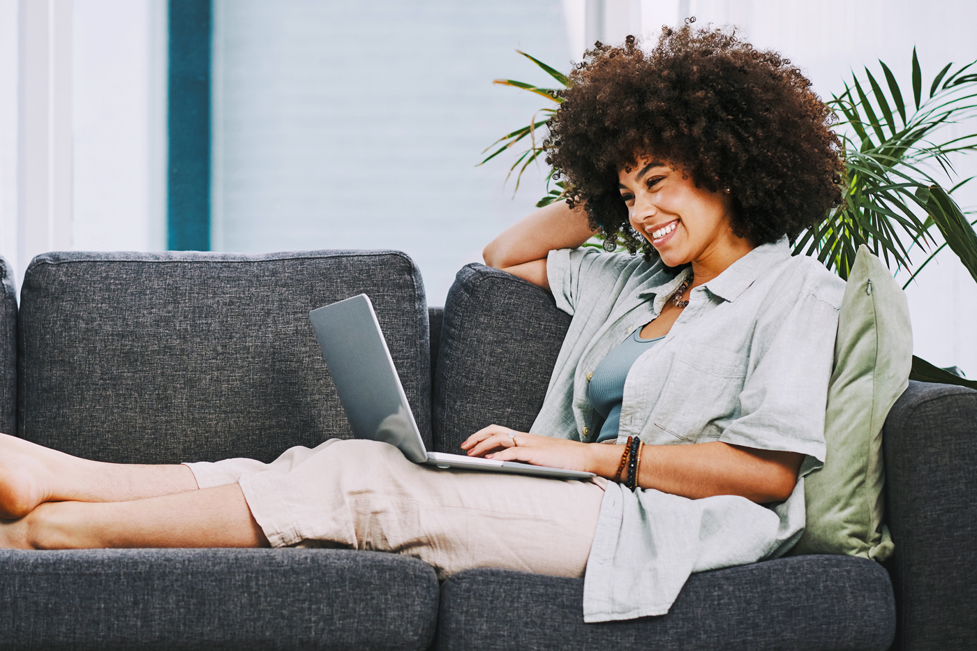
POLYGON ((268 539, 237 484, 119 502, 42 503, 0 521, 0 547, 259 547, 268 539))

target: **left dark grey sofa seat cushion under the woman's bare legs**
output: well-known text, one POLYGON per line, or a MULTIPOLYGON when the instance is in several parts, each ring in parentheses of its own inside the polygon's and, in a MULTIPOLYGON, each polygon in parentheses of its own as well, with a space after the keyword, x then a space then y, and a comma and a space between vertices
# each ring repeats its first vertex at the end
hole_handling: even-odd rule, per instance
POLYGON ((0 550, 4 649, 426 649, 429 565, 337 549, 0 550))

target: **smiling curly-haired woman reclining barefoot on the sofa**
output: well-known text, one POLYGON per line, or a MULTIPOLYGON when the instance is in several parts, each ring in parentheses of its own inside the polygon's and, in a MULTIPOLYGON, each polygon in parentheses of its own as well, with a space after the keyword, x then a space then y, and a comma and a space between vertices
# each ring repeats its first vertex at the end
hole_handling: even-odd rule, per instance
POLYGON ((370 441, 139 466, 4 437, 0 546, 328 544, 442 578, 585 571, 588 622, 664 613, 689 573, 784 553, 824 459, 843 290, 786 245, 840 200, 830 112, 789 62, 718 30, 598 46, 572 79, 546 144, 570 199, 485 259, 573 321, 531 432, 490 425, 462 448, 596 479, 437 470, 370 441), (644 254, 576 248, 598 229, 644 254))

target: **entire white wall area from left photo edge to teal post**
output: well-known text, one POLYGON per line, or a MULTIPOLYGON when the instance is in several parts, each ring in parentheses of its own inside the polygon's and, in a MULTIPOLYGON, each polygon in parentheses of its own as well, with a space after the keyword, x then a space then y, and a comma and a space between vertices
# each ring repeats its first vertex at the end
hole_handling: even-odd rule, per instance
POLYGON ((165 247, 166 0, 0 0, 0 254, 165 247), (52 39, 51 36, 54 36, 52 39))

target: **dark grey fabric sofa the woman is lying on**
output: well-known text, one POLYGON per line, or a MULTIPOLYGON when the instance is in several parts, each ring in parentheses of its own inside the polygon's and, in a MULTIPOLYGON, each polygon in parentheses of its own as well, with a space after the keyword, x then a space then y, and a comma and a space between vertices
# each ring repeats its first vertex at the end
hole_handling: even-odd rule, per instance
MULTIPOLYGON (((434 450, 526 429, 569 318, 481 265, 446 306, 395 251, 49 253, 4 265, 0 418, 109 461, 271 460, 349 429, 309 310, 365 292, 434 450), (15 406, 16 405, 16 410, 15 406)), ((337 549, 0 550, 0 649, 954 649, 977 640, 977 392, 912 383, 885 428, 887 568, 789 557, 694 575, 661 617, 585 625, 582 580, 443 585, 337 549)))

